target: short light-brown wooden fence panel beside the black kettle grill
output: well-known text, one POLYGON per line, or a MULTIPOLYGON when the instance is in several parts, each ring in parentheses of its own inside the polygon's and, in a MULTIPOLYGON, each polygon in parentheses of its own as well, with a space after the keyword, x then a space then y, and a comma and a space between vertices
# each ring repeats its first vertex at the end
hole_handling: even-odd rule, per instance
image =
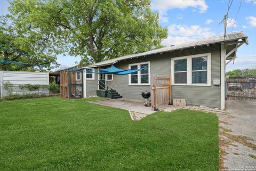
POLYGON ((152 74, 150 78, 151 107, 159 110, 171 104, 171 76, 152 74))

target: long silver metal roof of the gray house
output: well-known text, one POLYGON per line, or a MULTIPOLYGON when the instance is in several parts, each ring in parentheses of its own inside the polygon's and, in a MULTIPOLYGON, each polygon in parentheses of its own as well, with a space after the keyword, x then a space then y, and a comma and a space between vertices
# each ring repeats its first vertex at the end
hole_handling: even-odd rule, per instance
POLYGON ((110 59, 107 61, 94 63, 94 64, 91 64, 90 66, 86 66, 83 68, 94 68, 94 67, 100 67, 100 66, 107 66, 107 65, 116 63, 118 61, 125 60, 125 59, 137 58, 137 57, 141 57, 141 56, 147 56, 147 55, 163 53, 163 52, 176 51, 176 50, 181 50, 181 49, 196 47, 196 46, 210 45, 210 44, 221 43, 221 42, 231 42, 231 41, 235 41, 235 40, 239 40, 239 39, 244 40, 244 42, 246 44, 248 44, 247 43, 247 35, 245 35, 242 31, 241 32, 231 32, 231 33, 227 34, 226 37, 224 37, 224 35, 213 36, 213 37, 204 38, 201 40, 195 40, 192 42, 177 44, 177 45, 173 45, 173 46, 169 46, 169 47, 158 48, 158 49, 152 50, 152 51, 125 55, 125 56, 121 56, 119 58, 114 58, 114 59, 110 59))

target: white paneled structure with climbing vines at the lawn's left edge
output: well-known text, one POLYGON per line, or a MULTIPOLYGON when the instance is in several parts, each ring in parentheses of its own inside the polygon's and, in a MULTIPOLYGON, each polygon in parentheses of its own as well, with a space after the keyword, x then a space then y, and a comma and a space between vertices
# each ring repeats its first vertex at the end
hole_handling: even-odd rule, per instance
POLYGON ((38 88, 30 91, 22 85, 49 85, 48 72, 0 71, 1 98, 10 94, 44 94, 49 95, 49 88, 38 88), (10 83, 9 88, 5 87, 10 83))

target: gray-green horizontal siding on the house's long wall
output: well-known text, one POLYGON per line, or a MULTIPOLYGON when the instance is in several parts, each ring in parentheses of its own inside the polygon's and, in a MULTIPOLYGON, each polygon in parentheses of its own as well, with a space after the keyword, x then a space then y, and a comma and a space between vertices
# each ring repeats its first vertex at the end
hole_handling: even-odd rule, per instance
MULTIPOLYGON (((171 58, 202 53, 211 53, 212 83, 213 79, 220 79, 220 44, 149 55, 138 59, 128 59, 115 63, 115 66, 121 69, 128 69, 129 64, 150 61, 151 74, 171 75, 171 58)), ((95 87, 98 89, 98 74, 95 74, 95 80, 96 77, 97 81, 86 85, 86 87, 90 86, 91 91, 95 87)), ((150 86, 148 85, 129 85, 128 75, 114 75, 113 81, 109 81, 107 84, 115 88, 125 98, 142 100, 141 92, 145 91, 145 89, 150 91, 150 86)), ((172 98, 186 99, 189 105, 206 105, 212 108, 220 108, 220 86, 172 86, 172 98)))

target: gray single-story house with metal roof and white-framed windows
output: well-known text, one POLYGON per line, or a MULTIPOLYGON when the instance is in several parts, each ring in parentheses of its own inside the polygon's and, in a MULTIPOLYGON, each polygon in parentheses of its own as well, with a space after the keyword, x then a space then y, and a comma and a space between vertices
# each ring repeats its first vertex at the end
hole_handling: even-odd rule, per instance
POLYGON ((169 75, 172 98, 186 99, 188 105, 225 109, 225 66, 244 43, 248 44, 247 35, 233 32, 95 63, 84 67, 84 96, 110 86, 117 97, 142 99, 141 92, 150 91, 150 74, 169 75), (112 64, 120 69, 148 69, 123 76, 89 73, 112 64))

